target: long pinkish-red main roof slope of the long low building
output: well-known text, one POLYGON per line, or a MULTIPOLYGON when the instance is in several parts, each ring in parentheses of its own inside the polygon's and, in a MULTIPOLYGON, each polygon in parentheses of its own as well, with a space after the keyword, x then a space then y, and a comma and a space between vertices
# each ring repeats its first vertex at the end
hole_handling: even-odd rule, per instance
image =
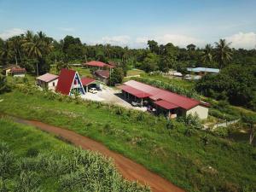
POLYGON ((154 101, 164 100, 187 110, 201 104, 201 102, 196 101, 195 99, 181 96, 168 90, 161 90, 154 86, 143 84, 134 80, 127 81, 125 82, 125 84, 147 93, 148 95, 150 95, 149 97, 154 101))

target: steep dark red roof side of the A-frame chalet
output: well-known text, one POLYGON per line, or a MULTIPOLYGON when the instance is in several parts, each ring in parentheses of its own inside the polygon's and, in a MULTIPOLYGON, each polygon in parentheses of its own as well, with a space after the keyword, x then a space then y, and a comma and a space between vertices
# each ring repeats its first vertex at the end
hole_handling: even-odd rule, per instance
POLYGON ((63 95, 69 95, 75 74, 76 72, 73 70, 62 68, 56 91, 63 95))

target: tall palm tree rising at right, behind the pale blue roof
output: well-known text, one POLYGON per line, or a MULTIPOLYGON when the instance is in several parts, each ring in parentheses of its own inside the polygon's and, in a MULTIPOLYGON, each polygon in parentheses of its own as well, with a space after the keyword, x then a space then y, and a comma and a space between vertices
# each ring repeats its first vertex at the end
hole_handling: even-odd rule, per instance
POLYGON ((215 44, 216 53, 214 57, 218 61, 219 68, 223 68, 232 59, 232 52, 229 47, 231 43, 227 43, 225 39, 219 39, 219 42, 215 42, 215 44))

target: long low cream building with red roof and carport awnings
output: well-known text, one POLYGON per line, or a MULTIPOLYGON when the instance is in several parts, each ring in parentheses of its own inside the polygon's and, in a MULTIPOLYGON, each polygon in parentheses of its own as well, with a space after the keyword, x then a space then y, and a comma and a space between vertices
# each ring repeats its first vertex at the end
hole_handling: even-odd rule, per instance
POLYGON ((135 101, 147 101, 158 111, 163 111, 169 117, 176 117, 180 115, 188 115, 195 113, 200 119, 207 119, 208 104, 199 102, 186 96, 181 96, 172 93, 168 90, 161 90, 148 84, 143 84, 134 80, 130 80, 118 86, 125 95, 125 98, 130 98, 135 101))

